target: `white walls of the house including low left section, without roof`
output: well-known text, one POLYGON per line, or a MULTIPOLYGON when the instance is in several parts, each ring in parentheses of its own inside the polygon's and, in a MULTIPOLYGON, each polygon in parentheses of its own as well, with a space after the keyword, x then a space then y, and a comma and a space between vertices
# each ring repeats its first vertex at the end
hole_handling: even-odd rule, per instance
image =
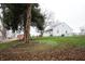
MULTIPOLYGON (((53 31, 51 31, 53 36, 71 36, 72 35, 72 29, 65 23, 61 23, 59 25, 56 25, 53 27, 53 31)), ((49 31, 44 33, 43 36, 51 36, 49 31)))

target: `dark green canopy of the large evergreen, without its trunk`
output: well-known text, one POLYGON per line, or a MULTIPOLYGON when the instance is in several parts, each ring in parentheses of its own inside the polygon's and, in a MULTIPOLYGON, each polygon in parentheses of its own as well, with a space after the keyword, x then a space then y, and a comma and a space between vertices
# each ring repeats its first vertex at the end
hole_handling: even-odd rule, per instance
MULTIPOLYGON (((23 29, 27 20, 27 3, 2 3, 3 21, 8 29, 13 31, 23 29)), ((31 26, 37 26, 43 30, 44 15, 41 13, 38 3, 31 3, 31 26)))

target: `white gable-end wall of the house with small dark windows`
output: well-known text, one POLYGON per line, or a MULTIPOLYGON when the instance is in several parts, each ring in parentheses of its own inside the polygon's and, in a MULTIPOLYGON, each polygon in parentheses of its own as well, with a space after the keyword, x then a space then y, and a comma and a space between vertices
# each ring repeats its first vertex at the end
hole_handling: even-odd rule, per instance
POLYGON ((61 36, 61 35, 70 36, 71 33, 72 33, 72 29, 65 24, 61 24, 53 28, 53 36, 61 36))

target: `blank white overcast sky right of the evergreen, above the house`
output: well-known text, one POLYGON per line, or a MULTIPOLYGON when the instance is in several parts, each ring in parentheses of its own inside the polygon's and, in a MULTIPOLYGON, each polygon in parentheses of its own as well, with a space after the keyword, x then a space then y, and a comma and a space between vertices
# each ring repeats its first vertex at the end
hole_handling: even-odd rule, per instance
POLYGON ((75 33, 85 25, 85 0, 38 0, 43 11, 55 14, 55 20, 66 22, 75 33))

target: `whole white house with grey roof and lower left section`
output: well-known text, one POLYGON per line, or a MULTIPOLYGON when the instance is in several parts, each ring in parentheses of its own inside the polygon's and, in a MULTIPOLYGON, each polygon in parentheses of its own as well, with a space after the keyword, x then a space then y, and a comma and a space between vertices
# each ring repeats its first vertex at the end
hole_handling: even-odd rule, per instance
POLYGON ((72 30, 66 23, 54 23, 45 28, 43 36, 71 36, 72 30))

